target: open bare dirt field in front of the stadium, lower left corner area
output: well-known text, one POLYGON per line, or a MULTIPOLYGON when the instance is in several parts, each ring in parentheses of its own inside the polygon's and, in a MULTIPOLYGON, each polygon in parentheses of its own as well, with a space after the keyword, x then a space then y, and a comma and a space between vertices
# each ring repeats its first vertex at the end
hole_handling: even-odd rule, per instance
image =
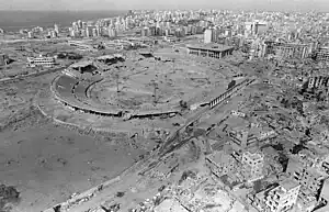
POLYGON ((31 109, 50 76, 0 87, 0 182, 15 186, 21 202, 12 211, 41 211, 116 176, 138 152, 94 141, 56 126, 31 109))

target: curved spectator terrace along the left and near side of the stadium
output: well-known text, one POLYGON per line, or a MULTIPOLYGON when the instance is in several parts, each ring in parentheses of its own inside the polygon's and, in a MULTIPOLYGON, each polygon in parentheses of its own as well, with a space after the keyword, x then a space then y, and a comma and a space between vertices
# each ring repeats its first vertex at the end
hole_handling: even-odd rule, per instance
POLYGON ((148 118, 148 116, 159 116, 159 115, 174 115, 179 111, 174 109, 163 109, 158 110, 126 110, 118 109, 113 105, 102 104, 95 99, 90 97, 90 89, 93 85, 102 81, 103 78, 100 75, 88 76, 88 77, 75 77, 68 74, 61 74, 57 76, 52 82, 52 91, 55 98, 59 100, 63 104, 70 107, 73 110, 79 110, 82 112, 104 115, 104 116, 115 116, 124 119, 135 119, 135 118, 148 118))

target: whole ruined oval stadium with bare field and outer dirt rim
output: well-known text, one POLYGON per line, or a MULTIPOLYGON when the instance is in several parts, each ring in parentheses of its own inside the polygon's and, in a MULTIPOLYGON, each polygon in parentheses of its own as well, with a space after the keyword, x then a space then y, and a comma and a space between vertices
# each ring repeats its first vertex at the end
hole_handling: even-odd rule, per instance
POLYGON ((204 66, 172 48, 157 49, 155 56, 137 52, 123 63, 110 55, 72 64, 55 77, 50 92, 38 94, 38 108, 58 123, 148 136, 169 132, 185 123, 189 111, 211 105, 209 99, 227 90, 226 76, 236 72, 218 69, 222 62, 204 66))

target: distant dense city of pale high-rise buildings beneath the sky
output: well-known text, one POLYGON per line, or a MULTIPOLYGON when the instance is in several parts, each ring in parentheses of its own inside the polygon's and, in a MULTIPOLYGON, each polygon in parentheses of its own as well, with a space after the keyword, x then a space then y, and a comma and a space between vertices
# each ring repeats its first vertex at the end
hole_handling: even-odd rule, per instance
MULTIPOLYGON (((253 57, 328 59, 327 13, 234 13, 230 11, 129 11, 124 16, 72 22, 70 27, 21 30, 26 38, 88 38, 129 34, 179 40, 204 34, 204 43, 240 48, 253 57), (296 22, 296 20, 298 20, 296 22)), ((0 32, 4 33, 3 30, 0 32)))

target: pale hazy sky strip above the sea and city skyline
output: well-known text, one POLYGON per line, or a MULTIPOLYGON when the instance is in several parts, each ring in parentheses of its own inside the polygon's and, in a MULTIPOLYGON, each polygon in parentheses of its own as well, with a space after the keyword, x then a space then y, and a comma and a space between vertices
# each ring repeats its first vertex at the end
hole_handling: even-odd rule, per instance
POLYGON ((329 12, 329 0, 0 0, 1 10, 137 10, 184 8, 320 10, 329 12))

